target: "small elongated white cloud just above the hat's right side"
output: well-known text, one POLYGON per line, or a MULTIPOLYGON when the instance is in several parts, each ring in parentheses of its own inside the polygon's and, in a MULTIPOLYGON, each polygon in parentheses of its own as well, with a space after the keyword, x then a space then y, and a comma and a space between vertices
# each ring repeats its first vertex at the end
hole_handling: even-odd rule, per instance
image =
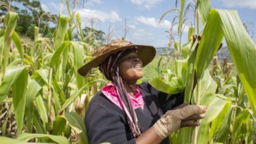
POLYGON ((138 20, 142 24, 146 24, 152 27, 163 27, 163 28, 171 27, 171 22, 169 22, 168 20, 163 20, 161 23, 159 23, 159 20, 157 20, 154 17, 139 16, 136 18, 136 20, 138 20))

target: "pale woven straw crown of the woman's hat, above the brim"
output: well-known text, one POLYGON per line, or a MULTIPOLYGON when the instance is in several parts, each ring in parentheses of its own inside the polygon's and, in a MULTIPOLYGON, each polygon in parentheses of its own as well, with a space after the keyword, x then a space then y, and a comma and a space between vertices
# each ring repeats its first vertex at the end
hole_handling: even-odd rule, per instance
POLYGON ((95 52, 93 52, 93 57, 98 57, 98 56, 100 56, 104 53, 107 53, 113 49, 121 48, 123 46, 131 46, 131 45, 133 45, 133 43, 123 41, 121 39, 115 39, 115 40, 110 41, 110 43, 108 45, 102 46, 98 50, 95 50, 95 52))

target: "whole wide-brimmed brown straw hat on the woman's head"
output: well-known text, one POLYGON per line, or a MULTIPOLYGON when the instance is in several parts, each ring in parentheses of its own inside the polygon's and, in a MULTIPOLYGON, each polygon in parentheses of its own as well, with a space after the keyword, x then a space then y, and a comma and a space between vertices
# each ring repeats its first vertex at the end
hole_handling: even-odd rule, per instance
POLYGON ((108 56, 110 56, 111 54, 115 54, 116 52, 119 52, 121 50, 126 50, 128 48, 137 48, 137 53, 143 63, 143 67, 150 63, 156 56, 156 49, 154 48, 154 46, 133 45, 133 43, 131 42, 117 39, 111 41, 110 44, 102 46, 100 49, 96 50, 93 53, 93 59, 80 67, 78 69, 78 73, 80 75, 86 76, 92 68, 98 67, 98 65, 106 60, 108 56))

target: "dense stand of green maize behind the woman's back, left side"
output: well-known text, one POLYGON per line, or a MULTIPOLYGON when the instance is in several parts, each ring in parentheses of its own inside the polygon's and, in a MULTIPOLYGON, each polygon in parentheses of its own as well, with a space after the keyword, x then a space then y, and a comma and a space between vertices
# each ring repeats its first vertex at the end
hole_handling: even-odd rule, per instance
POLYGON ((9 11, 5 17, 0 33, 1 143, 87 143, 85 110, 106 81, 97 73, 92 73, 95 78, 77 73, 92 58, 94 42, 87 43, 79 13, 66 3, 69 16, 60 11, 52 39, 41 37, 34 27, 34 41, 24 43, 14 31, 18 14, 9 11), (79 41, 74 41, 75 31, 79 41))

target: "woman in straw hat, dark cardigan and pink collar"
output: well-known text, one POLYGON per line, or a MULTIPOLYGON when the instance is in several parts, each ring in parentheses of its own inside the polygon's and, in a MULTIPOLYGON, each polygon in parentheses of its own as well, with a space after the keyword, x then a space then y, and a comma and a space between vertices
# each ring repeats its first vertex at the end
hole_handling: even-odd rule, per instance
POLYGON ((153 46, 114 40, 97 50, 93 60, 78 70, 86 76, 98 67, 111 81, 94 96, 87 109, 89 143, 169 143, 167 136, 171 132, 184 126, 199 126, 192 120, 203 118, 206 107, 182 104, 184 94, 168 95, 146 82, 136 84, 143 77, 142 67, 155 55, 153 46))

